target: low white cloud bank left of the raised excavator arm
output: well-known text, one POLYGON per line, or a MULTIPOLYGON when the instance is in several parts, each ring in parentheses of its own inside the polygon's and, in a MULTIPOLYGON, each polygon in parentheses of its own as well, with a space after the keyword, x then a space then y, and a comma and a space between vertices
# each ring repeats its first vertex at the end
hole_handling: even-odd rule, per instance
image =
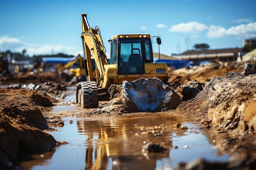
POLYGON ((81 49, 74 46, 63 46, 62 44, 28 44, 21 41, 18 38, 10 38, 7 35, 0 37, 1 51, 11 50, 12 52, 21 53, 23 49, 26 49, 29 56, 33 55, 47 55, 57 53, 64 53, 69 55, 83 54, 81 49))

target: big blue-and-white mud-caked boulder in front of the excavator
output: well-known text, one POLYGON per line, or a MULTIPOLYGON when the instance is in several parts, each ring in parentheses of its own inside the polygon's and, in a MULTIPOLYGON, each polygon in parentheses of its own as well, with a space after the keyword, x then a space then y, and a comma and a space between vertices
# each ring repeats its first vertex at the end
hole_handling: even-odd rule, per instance
POLYGON ((156 77, 124 81, 122 87, 126 102, 133 102, 139 111, 175 109, 180 104, 180 95, 156 77))

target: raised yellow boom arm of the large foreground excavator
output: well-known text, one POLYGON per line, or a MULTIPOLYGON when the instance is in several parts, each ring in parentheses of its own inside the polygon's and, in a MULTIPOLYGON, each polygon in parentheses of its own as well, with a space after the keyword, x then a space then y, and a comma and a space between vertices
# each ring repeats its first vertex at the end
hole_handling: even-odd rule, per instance
POLYGON ((82 34, 81 38, 83 41, 83 51, 85 55, 85 66, 87 67, 87 81, 93 81, 94 77, 92 76, 92 57, 94 57, 95 64, 97 66, 96 72, 99 74, 96 77, 96 82, 99 88, 103 85, 103 79, 105 75, 106 64, 109 64, 108 58, 106 57, 106 49, 103 44, 101 33, 99 28, 91 28, 88 24, 87 14, 82 13, 82 34))

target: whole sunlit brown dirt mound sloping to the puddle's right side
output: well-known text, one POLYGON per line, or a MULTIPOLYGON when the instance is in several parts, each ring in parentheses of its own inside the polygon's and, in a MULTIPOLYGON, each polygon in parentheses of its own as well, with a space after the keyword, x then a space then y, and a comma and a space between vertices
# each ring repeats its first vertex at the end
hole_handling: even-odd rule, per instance
POLYGON ((182 102, 175 114, 215 129, 213 140, 221 150, 230 153, 233 148, 233 152, 255 156, 256 146, 251 141, 256 139, 256 74, 244 74, 254 66, 245 66, 242 73, 234 71, 225 77, 213 77, 195 98, 182 102))

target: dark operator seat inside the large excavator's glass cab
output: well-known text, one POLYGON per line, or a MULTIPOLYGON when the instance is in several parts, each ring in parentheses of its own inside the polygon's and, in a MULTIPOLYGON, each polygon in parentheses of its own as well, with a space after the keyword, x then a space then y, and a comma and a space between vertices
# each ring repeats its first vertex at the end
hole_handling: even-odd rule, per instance
POLYGON ((128 58, 128 62, 130 73, 144 74, 144 63, 139 54, 131 54, 128 58))

